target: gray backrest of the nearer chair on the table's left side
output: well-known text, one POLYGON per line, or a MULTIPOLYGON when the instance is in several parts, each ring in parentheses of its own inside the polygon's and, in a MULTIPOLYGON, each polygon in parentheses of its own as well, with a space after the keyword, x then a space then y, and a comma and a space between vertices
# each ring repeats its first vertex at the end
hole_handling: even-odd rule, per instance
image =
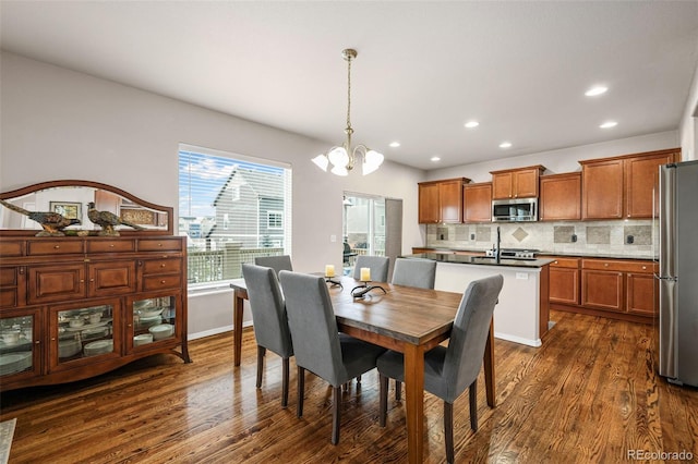
POLYGON ((279 272, 286 296, 296 364, 333 386, 347 379, 337 321, 325 279, 300 272, 279 272))

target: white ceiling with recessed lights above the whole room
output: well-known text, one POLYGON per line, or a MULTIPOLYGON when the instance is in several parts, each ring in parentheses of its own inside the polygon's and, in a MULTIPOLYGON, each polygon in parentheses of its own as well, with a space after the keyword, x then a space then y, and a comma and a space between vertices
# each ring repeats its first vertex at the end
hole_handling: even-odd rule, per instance
POLYGON ((3 50, 328 146, 356 48, 354 142, 421 169, 676 130, 698 62, 691 0, 2 0, 0 20, 3 50))

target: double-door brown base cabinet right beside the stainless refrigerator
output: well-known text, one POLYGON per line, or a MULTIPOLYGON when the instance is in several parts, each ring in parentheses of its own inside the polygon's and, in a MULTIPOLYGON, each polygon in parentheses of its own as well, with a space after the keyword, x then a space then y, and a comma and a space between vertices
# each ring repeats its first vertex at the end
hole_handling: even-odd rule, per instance
POLYGON ((642 260, 582 259, 581 305, 653 317, 659 302, 655 266, 642 260))

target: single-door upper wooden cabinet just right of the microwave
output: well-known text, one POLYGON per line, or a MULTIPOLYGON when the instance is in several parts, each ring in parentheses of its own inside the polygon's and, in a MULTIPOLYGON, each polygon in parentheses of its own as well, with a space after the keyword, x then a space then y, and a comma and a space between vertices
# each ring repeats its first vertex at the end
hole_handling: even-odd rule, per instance
POLYGON ((581 219, 581 172, 541 176, 541 221, 581 219))

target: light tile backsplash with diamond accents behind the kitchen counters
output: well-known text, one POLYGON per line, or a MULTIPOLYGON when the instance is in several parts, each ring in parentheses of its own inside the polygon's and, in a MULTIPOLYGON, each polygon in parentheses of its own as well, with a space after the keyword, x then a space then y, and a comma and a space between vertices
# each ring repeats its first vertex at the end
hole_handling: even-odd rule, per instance
MULTIPOLYGON (((502 247, 532 248, 545 253, 653 258, 652 243, 659 223, 651 219, 586 222, 517 222, 428 224, 426 246, 436 248, 491 248, 497 225, 502 247)), ((655 247, 654 247, 655 248, 655 247)))

